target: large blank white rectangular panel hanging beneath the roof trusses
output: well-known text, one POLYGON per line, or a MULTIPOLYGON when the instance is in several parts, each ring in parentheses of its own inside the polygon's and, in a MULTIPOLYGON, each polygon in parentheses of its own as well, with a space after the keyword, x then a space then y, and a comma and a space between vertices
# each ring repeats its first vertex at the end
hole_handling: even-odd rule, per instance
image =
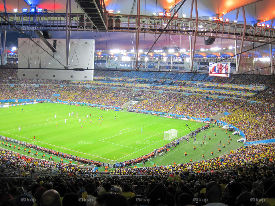
MULTIPOLYGON (((41 39, 34 39, 34 41, 66 66, 66 39, 57 39, 57 52, 55 53, 53 53, 41 39)), ((52 41, 52 39, 50 39, 50 41, 52 41)), ((33 41, 27 38, 19 38, 18 77, 28 79, 93 80, 94 52, 94 39, 71 39, 69 70, 64 70, 62 64, 47 54, 33 41), (28 68, 37 68, 37 70, 28 68), (80 68, 88 70, 70 70, 80 68)))

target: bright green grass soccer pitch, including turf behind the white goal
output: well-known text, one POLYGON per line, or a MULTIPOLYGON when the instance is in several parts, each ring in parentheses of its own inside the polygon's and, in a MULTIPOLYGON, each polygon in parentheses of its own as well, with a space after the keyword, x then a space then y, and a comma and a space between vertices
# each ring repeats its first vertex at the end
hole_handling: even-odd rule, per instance
MULTIPOLYGON (((105 163, 131 160, 164 146, 169 142, 163 140, 164 132, 167 130, 177 129, 178 135, 184 136, 190 133, 185 126, 186 123, 193 131, 205 124, 148 114, 114 110, 107 112, 94 107, 55 103, 1 108, 0 115, 0 134, 3 136, 105 163), (69 116, 72 112, 74 116, 69 116)), ((239 139, 237 135, 231 135, 231 144, 227 145, 228 134, 225 135, 225 132, 216 126, 214 131, 211 128, 200 132, 197 141, 201 141, 204 134, 207 134, 207 139, 202 147, 198 142, 192 142, 193 139, 190 139, 189 143, 182 141, 174 150, 170 148, 171 151, 168 151, 167 155, 163 153, 152 161, 158 165, 169 165, 174 161, 177 164, 186 163, 189 162, 191 154, 193 161, 200 160, 202 152, 205 152, 205 159, 210 159, 243 145, 236 142, 239 139), (215 132, 217 136, 214 136, 215 132), (211 140, 208 140, 208 136, 211 136, 211 140), (225 148, 221 146, 222 151, 218 154, 220 140, 227 146, 225 148), (193 150, 193 146, 197 149, 193 150), (210 157, 211 150, 215 155, 210 157), (185 151, 187 157, 183 155, 185 151)), ((150 166, 150 163, 146 164, 150 166)))

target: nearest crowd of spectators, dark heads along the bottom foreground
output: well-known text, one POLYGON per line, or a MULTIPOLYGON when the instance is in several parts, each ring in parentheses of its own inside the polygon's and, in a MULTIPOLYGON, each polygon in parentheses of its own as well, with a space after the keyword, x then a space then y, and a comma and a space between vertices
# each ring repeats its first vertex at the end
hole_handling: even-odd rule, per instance
MULTIPOLYGON (((2 170, 9 164, 33 169, 36 163, 5 150, 0 152, 2 170)), ((273 205, 274 155, 274 145, 266 144, 241 147, 228 155, 195 163, 121 168, 106 177, 77 178, 78 173, 70 170, 67 175, 36 179, 2 178, 0 201, 1 206, 273 205)), ((24 170, 14 174, 26 175, 24 170)))

